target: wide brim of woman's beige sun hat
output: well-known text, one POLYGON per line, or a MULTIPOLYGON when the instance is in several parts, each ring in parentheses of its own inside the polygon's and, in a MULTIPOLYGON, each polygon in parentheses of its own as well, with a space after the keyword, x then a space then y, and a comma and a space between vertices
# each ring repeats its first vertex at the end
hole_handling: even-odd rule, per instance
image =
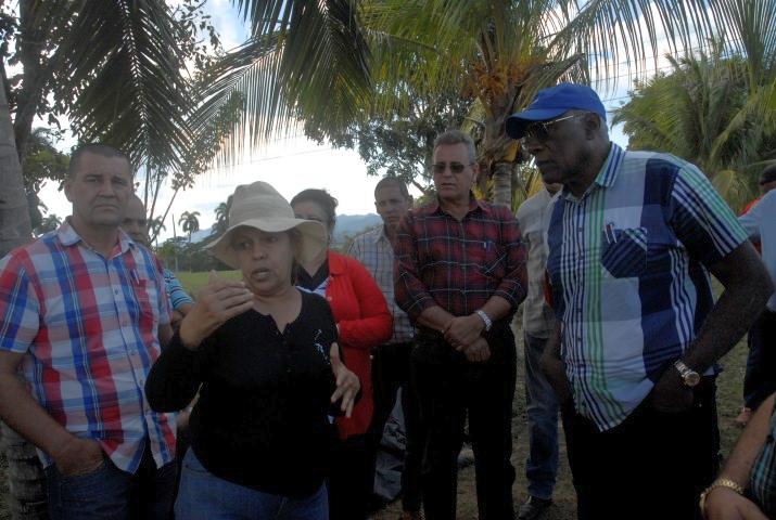
POLYGON ((282 233, 296 229, 302 235, 300 252, 296 258, 298 262, 307 262, 315 258, 327 246, 327 231, 323 224, 315 220, 303 219, 247 219, 239 222, 229 229, 217 239, 206 245, 205 248, 213 251, 218 260, 232 269, 240 269, 234 249, 231 247, 231 234, 238 227, 253 227, 265 233, 282 233))

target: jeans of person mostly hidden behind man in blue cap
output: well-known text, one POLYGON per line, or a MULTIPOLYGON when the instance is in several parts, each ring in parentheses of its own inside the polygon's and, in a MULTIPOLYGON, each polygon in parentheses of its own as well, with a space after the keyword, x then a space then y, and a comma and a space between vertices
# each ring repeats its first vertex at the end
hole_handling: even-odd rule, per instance
POLYGON ((546 339, 525 334, 525 402, 529 416, 529 494, 551 498, 558 474, 558 398, 547 381, 539 358, 546 339))

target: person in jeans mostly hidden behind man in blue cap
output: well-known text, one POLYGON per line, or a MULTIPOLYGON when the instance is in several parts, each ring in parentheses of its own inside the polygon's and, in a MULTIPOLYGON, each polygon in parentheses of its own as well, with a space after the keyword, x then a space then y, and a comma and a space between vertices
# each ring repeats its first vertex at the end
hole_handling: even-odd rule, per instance
POLYGON ((518 510, 519 520, 539 518, 552 503, 558 474, 558 396, 547 381, 539 359, 554 322, 544 294, 547 269, 547 224, 550 200, 562 186, 547 184, 518 208, 520 233, 529 251, 529 296, 523 302, 523 350, 525 352, 525 400, 529 417, 529 458, 525 478, 529 499, 518 510))

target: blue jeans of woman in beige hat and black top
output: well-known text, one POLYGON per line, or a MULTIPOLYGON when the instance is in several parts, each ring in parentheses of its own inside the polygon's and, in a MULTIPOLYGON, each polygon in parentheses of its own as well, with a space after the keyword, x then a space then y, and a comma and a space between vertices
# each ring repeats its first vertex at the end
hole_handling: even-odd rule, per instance
POLYGON ((175 517, 186 520, 329 520, 329 502, 323 484, 309 496, 290 498, 226 481, 207 471, 190 448, 183 457, 175 517))

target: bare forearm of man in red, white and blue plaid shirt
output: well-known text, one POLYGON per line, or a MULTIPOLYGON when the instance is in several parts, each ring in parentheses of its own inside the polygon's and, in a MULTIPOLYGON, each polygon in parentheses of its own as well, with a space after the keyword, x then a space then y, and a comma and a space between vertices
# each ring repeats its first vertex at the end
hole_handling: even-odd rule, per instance
POLYGON ((33 399, 15 374, 0 374, 0 417, 52 457, 73 437, 33 399))

